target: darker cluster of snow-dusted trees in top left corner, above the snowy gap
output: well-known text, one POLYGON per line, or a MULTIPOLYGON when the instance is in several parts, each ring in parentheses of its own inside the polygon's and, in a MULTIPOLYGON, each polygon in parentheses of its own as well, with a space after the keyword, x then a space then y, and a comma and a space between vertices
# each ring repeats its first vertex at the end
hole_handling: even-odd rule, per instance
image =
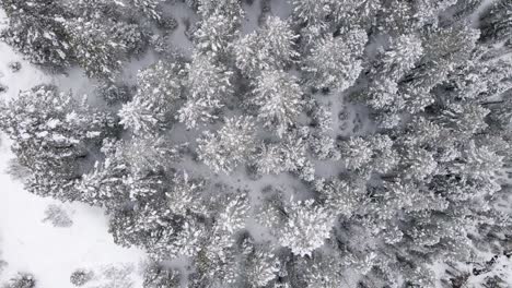
POLYGON ((2 0, 9 25, 0 38, 35 64, 60 71, 77 64, 88 76, 112 79, 146 49, 151 21, 164 21, 160 2, 2 0))

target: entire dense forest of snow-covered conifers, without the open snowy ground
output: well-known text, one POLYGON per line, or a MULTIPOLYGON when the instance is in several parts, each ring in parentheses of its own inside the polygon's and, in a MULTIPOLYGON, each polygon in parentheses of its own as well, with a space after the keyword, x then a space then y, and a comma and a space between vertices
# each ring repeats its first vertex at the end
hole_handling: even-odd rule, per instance
MULTIPOLYGON (((434 287, 434 263, 510 251, 512 1, 290 2, 243 35, 240 0, 186 1, 191 59, 141 70, 108 109, 21 93, 0 128, 27 189, 105 207, 154 260, 147 288, 179 287, 176 259, 198 288, 434 287), (372 124, 341 133, 339 105, 372 124)), ((96 76, 147 44, 135 19, 162 19, 159 1, 79 3, 4 0, 2 37, 96 76)))

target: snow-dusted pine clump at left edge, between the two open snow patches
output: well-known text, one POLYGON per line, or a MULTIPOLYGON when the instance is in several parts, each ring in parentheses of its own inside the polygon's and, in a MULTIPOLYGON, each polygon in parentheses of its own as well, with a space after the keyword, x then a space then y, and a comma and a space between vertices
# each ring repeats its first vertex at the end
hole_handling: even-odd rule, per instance
POLYGON ((21 92, 2 108, 1 127, 12 149, 32 171, 27 189, 36 194, 77 200, 73 189, 90 149, 116 130, 115 118, 97 111, 55 86, 21 92))

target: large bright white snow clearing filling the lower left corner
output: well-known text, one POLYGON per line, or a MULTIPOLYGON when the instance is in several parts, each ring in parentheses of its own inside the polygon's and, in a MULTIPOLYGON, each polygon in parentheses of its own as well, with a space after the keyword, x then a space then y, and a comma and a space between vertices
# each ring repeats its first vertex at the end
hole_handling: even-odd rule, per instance
POLYGON ((60 228, 43 223, 47 205, 58 203, 24 191, 22 183, 4 172, 8 160, 13 157, 8 144, 3 137, 0 149, 0 250, 8 266, 0 280, 16 272, 28 272, 35 275, 38 287, 66 288, 72 287, 69 276, 77 268, 119 263, 137 265, 143 260, 142 251, 114 243, 100 208, 78 203, 61 204, 71 215, 73 225, 60 228))

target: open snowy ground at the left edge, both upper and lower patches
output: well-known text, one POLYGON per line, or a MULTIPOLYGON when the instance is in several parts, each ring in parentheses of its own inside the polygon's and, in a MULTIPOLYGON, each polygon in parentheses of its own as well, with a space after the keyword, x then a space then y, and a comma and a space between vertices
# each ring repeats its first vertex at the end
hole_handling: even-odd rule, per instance
MULTIPOLYGON (((1 19, 0 11, 0 23, 1 19)), ((9 87, 0 93, 2 99, 44 82, 79 93, 86 89, 90 84, 74 74, 49 79, 0 44, 0 84, 9 87), (22 69, 13 73, 8 67, 11 61, 21 61, 22 69)), ((27 272, 35 275, 39 288, 71 288, 70 274, 77 268, 91 268, 95 278, 85 288, 141 287, 139 264, 144 260, 143 251, 116 245, 102 209, 62 204, 24 191, 21 181, 7 172, 13 157, 9 140, 1 135, 0 260, 8 264, 0 273, 0 285, 18 272, 27 272), (72 226, 54 227, 43 221, 49 204, 61 206, 72 226)))

